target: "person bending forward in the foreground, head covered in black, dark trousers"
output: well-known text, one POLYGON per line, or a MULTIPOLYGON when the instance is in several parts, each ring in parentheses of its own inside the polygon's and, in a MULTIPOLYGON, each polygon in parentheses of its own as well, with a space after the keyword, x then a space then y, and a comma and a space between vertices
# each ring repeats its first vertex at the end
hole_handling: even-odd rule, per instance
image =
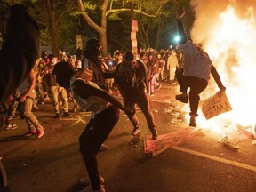
POLYGON ((91 186, 84 188, 83 191, 104 192, 105 189, 100 183, 102 179, 100 179, 96 155, 118 122, 119 109, 124 110, 129 116, 133 111, 124 108, 118 100, 93 82, 93 74, 89 69, 82 68, 75 72, 68 62, 59 62, 53 69, 53 74, 56 74, 60 86, 71 89, 73 98, 83 111, 92 112, 90 122, 79 137, 80 150, 91 180, 91 186))

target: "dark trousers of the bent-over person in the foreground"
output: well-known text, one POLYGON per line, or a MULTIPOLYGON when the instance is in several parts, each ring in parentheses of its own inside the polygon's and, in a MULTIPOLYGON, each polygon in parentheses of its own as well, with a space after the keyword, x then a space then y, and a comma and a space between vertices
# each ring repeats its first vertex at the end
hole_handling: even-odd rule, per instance
POLYGON ((119 120, 120 111, 110 106, 97 114, 86 125, 84 132, 79 137, 80 151, 84 157, 84 163, 94 190, 100 189, 100 177, 96 155, 101 144, 108 138, 119 120))

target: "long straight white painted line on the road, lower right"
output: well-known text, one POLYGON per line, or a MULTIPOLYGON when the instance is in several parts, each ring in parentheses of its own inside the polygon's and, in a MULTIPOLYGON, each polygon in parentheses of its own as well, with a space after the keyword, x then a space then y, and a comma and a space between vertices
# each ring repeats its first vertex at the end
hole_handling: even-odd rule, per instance
POLYGON ((228 159, 224 159, 224 158, 221 158, 221 157, 218 157, 218 156, 207 155, 207 154, 200 153, 200 152, 197 152, 197 151, 194 151, 194 150, 190 150, 188 148, 172 147, 172 149, 178 150, 178 151, 181 151, 181 152, 184 152, 184 153, 188 153, 188 154, 191 154, 191 155, 194 155, 194 156, 202 156, 204 158, 208 158, 208 159, 211 159, 213 161, 218 161, 218 162, 224 163, 224 164, 231 164, 231 165, 239 167, 239 168, 243 168, 243 169, 250 170, 252 172, 256 172, 256 167, 252 166, 252 165, 238 163, 238 162, 231 161, 231 160, 228 160, 228 159))

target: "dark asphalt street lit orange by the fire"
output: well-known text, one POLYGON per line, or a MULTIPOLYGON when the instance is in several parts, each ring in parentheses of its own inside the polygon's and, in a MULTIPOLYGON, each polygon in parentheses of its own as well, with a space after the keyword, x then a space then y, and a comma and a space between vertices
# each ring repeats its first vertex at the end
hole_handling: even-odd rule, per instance
MULTIPOLYGON (((242 140, 239 148, 220 142, 220 132, 191 129, 183 118, 169 113, 180 104, 173 100, 177 87, 165 84, 150 97, 160 135, 170 134, 172 148, 152 157, 145 154, 144 137, 149 134, 144 116, 140 139, 130 135, 132 124, 121 113, 111 132, 107 151, 98 155, 100 173, 107 192, 255 192, 256 153, 252 139, 242 140)), ((120 97, 118 97, 120 99, 120 97)), ((67 118, 53 118, 52 104, 40 105, 36 116, 45 127, 44 136, 24 137, 26 123, 12 120, 19 128, 0 132, 3 162, 12 192, 76 192, 87 177, 79 152, 78 137, 90 114, 76 112, 67 118)), ((70 108, 72 103, 70 102, 70 108)), ((182 107, 183 108, 183 107, 182 107)))

